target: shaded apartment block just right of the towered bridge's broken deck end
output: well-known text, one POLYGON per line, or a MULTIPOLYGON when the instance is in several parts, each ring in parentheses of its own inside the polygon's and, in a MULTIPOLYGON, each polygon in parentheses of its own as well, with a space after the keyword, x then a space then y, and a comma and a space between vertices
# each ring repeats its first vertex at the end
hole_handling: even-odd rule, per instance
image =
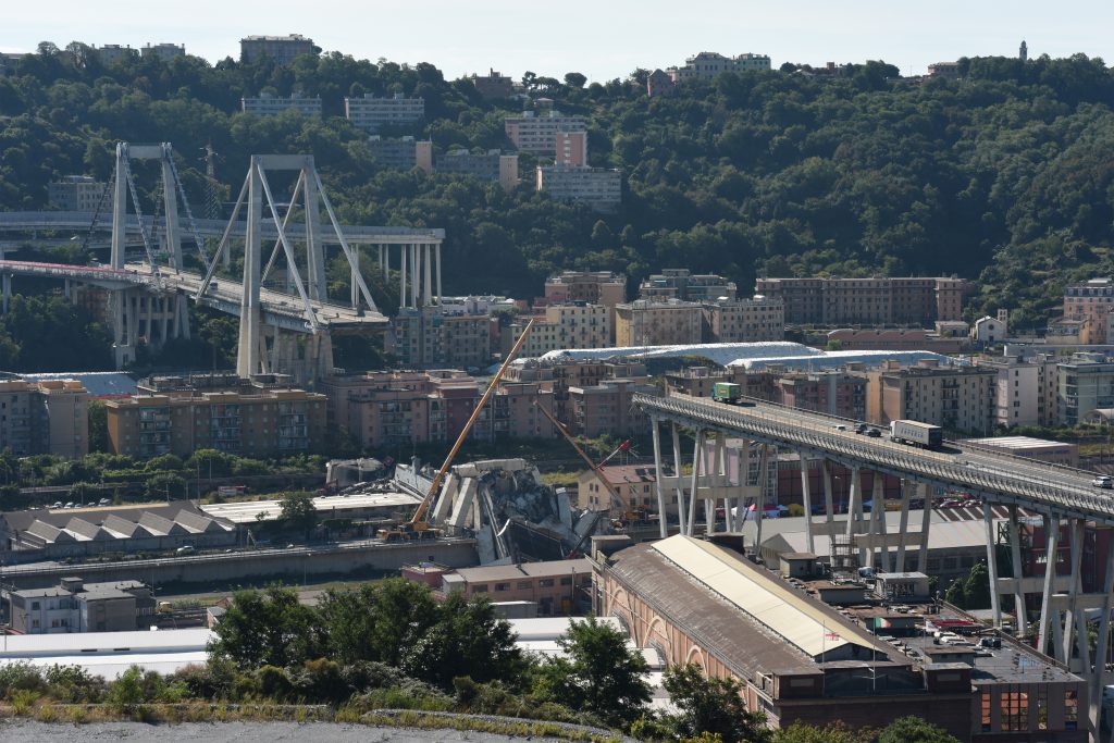
POLYGON ((478 369, 491 363, 491 323, 487 314, 401 307, 391 317, 387 348, 401 366, 478 369))

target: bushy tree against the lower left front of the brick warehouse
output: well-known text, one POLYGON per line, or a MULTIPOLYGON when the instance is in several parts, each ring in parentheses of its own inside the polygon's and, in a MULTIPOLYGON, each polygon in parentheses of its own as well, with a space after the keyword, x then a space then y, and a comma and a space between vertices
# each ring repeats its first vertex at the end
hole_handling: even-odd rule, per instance
POLYGON ((663 682, 677 713, 665 715, 678 737, 719 735, 724 743, 765 743, 770 731, 763 715, 750 712, 743 701, 745 685, 734 678, 707 678, 690 663, 670 666, 663 682))

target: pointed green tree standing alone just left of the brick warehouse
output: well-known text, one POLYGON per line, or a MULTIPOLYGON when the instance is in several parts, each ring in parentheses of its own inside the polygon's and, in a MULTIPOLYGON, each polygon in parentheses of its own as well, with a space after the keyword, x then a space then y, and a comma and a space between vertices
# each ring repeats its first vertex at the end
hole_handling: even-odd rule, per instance
POLYGON ((537 691, 555 702, 599 716, 608 724, 629 725, 649 703, 644 680, 649 666, 641 653, 626 646, 626 636, 588 615, 569 624, 557 641, 567 658, 543 667, 537 691))

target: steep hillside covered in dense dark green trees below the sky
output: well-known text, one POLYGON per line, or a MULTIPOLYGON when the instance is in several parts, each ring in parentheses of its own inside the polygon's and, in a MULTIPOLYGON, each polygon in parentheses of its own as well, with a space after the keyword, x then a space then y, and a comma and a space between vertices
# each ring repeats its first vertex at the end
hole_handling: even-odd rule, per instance
POLYGON ((593 165, 624 172, 622 209, 597 215, 535 193, 528 155, 511 194, 378 166, 342 117, 344 96, 421 96, 423 127, 383 134, 441 151, 508 148, 504 117, 530 106, 485 101, 430 63, 331 52, 289 67, 188 56, 104 67, 81 43, 43 43, 0 78, 0 209, 42 208, 62 175, 107 179, 116 140, 173 143, 202 204, 197 158, 212 143, 226 199, 251 154, 307 151, 343 221, 444 227, 452 293, 534 296, 560 268, 637 281, 684 266, 743 292, 762 274, 955 273, 981 283, 973 313, 1020 311, 1025 327, 1045 322, 1065 281, 1114 272, 1114 77, 1101 59, 964 59, 960 79, 922 84, 882 62, 842 77, 786 66, 653 99, 645 74, 587 86, 576 72, 524 77, 531 96, 588 117, 593 165), (294 90, 320 96, 324 118, 238 113, 242 96, 294 90))

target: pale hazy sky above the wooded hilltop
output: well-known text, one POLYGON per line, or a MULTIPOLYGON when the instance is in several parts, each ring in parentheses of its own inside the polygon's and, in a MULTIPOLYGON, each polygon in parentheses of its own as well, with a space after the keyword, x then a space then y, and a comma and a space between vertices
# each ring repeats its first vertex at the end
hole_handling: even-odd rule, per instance
POLYGON ((141 47, 163 41, 211 61, 248 35, 302 33, 326 51, 427 61, 447 78, 489 67, 589 80, 683 63, 697 51, 823 65, 882 59, 902 75, 935 61, 1083 52, 1114 62, 1114 2, 1062 0, 7 0, 0 50, 40 41, 141 47))

